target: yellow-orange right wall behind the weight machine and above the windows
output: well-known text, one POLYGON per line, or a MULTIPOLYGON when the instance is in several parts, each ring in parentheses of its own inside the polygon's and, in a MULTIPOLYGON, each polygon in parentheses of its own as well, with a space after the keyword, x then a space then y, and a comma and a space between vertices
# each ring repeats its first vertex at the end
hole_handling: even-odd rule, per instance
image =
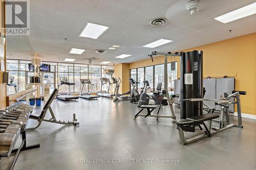
MULTIPOLYGON (((256 115, 256 33, 193 47, 184 52, 193 50, 204 52, 204 77, 227 75, 236 78, 236 90, 247 91, 247 95, 241 95, 242 112, 256 115)), ((154 63, 149 58, 131 63, 130 69, 163 62, 163 56, 155 57, 154 63)))

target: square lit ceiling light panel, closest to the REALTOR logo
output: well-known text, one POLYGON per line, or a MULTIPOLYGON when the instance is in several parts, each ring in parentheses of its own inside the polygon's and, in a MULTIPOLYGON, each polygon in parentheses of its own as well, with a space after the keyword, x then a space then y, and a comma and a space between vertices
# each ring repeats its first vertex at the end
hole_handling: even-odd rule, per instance
POLYGON ((98 39, 106 30, 110 27, 98 25, 96 23, 87 22, 86 27, 82 30, 79 37, 87 37, 92 39, 98 39))

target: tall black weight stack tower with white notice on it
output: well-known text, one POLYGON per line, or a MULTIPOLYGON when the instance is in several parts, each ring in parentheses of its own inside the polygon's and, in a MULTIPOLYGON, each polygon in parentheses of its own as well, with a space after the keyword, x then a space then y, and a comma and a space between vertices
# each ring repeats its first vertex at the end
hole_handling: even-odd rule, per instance
POLYGON ((203 102, 185 99, 203 98, 203 52, 182 52, 180 58, 180 118, 203 114, 203 102))

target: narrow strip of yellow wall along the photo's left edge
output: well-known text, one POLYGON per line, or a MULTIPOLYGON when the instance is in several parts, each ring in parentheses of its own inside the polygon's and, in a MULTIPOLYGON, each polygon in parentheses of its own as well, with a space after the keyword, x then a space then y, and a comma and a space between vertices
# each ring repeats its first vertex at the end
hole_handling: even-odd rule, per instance
MULTIPOLYGON (((0 3, 0 29, 2 30, 2 22, 4 22, 4 16, 5 16, 5 12, 4 12, 4 7, 2 6, 2 2, 0 3)), ((6 43, 5 43, 6 44, 6 43)), ((6 51, 6 45, 5 45, 5 51, 6 51)), ((6 54, 5 54, 6 56, 6 54)), ((3 60, 3 58, 1 58, 1 60, 3 60)), ((6 57, 4 58, 5 63, 6 63, 6 57)), ((6 65, 5 65, 6 68, 6 65)), ((3 83, 3 72, 4 71, 0 71, 0 110, 2 109, 6 109, 6 83, 3 83)))

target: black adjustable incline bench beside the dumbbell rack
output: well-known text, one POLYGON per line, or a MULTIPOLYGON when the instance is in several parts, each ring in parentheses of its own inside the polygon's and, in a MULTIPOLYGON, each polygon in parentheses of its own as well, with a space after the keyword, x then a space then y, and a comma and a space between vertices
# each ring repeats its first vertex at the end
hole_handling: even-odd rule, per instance
POLYGON ((58 93, 58 89, 55 88, 49 98, 49 100, 46 102, 44 108, 42 109, 41 113, 39 115, 37 114, 30 114, 29 118, 31 119, 35 119, 38 121, 38 124, 35 126, 35 127, 32 127, 32 128, 28 128, 27 131, 30 131, 30 130, 34 130, 36 128, 38 128, 42 121, 44 122, 50 122, 50 123, 56 123, 56 124, 61 124, 61 125, 74 125, 74 126, 77 126, 79 125, 79 123, 77 122, 77 119, 76 119, 76 114, 73 114, 73 120, 72 121, 61 121, 61 120, 57 120, 54 113, 53 113, 53 110, 51 108, 51 103, 52 101, 54 100, 55 96, 57 95, 58 93), (45 116, 46 116, 46 113, 47 111, 50 111, 51 113, 51 118, 50 119, 46 119, 45 116))

